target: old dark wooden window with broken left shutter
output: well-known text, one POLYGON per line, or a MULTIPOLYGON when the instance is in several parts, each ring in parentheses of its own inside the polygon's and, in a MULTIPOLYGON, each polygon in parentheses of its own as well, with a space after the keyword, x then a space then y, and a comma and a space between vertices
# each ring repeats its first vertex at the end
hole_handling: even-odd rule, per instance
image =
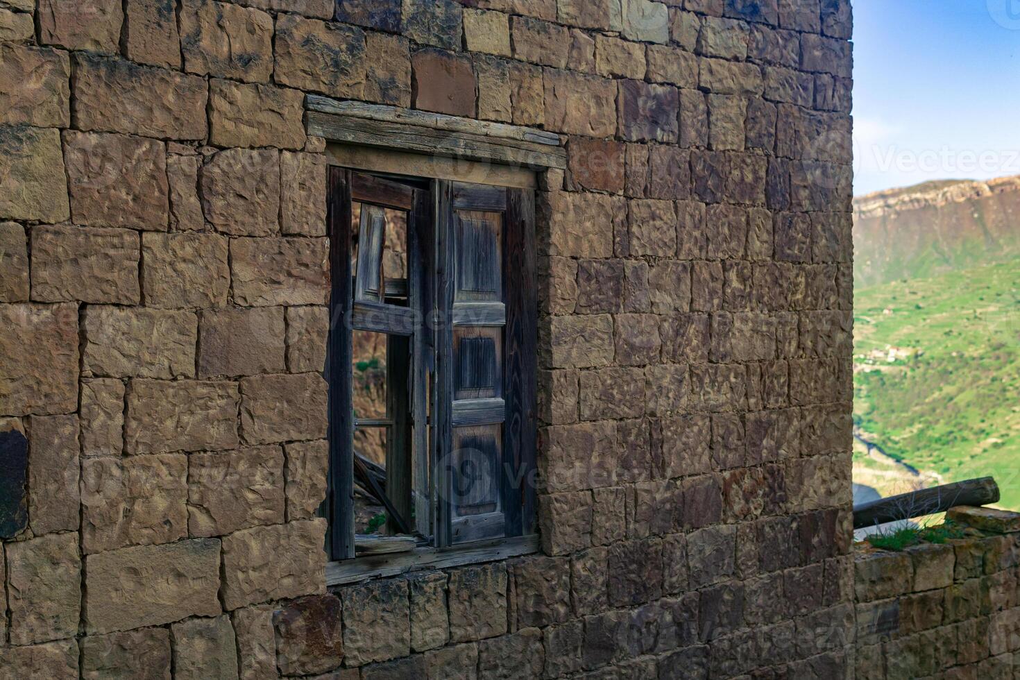
POLYGON ((531 190, 329 168, 334 560, 533 533, 531 190))

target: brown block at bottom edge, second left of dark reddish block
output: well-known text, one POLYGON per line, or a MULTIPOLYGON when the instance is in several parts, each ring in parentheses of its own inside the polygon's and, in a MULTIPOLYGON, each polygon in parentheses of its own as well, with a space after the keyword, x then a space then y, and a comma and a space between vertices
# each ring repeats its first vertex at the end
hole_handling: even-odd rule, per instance
POLYGON ((237 640, 225 614, 173 624, 173 677, 231 680, 238 677, 237 640))

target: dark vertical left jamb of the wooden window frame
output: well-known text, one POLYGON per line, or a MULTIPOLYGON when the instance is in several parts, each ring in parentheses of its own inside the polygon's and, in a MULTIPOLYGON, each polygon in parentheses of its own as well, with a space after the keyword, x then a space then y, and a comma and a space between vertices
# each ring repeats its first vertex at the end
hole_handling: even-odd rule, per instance
POLYGON ((329 551, 334 560, 354 557, 354 434, 351 409, 351 333, 343 320, 351 292, 351 194, 347 170, 329 168, 329 551))

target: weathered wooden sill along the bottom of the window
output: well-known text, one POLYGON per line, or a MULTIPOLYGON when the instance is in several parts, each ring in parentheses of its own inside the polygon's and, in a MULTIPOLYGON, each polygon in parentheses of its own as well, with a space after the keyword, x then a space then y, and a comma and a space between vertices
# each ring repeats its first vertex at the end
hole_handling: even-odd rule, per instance
POLYGON ((357 583, 370 578, 399 576, 426 569, 447 569, 497 562, 539 552, 539 536, 517 536, 462 543, 451 547, 418 547, 407 553, 366 555, 329 562, 325 566, 327 587, 357 583))

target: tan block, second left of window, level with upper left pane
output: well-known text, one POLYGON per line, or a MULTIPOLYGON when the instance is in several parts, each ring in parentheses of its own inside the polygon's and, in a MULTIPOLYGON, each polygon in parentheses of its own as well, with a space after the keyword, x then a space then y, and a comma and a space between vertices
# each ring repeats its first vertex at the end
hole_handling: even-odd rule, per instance
POLYGON ((227 240, 214 233, 144 233, 142 277, 149 307, 221 307, 231 285, 227 240))

